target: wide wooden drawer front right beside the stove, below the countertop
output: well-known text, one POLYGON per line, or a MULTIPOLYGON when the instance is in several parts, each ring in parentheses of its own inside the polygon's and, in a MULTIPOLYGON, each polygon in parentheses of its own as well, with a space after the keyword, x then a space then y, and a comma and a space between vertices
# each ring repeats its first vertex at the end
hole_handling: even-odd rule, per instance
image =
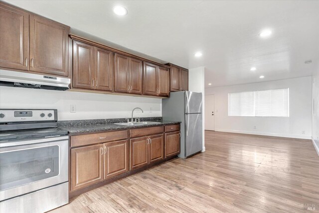
POLYGON ((71 147, 117 141, 128 138, 128 131, 102 132, 87 135, 71 136, 71 147))

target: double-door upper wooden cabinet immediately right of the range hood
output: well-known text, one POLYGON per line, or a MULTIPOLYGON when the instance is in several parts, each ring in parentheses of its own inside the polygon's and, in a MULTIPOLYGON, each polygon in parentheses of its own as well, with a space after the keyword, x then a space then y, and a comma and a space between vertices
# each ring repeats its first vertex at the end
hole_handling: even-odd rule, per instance
POLYGON ((73 40, 73 87, 113 90, 114 53, 73 40))

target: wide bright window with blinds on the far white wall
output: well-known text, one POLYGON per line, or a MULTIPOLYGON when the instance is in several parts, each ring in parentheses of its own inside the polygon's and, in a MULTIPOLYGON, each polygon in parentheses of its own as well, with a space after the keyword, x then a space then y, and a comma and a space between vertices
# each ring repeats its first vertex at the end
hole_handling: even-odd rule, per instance
POLYGON ((289 117, 289 88, 228 93, 228 116, 289 117))

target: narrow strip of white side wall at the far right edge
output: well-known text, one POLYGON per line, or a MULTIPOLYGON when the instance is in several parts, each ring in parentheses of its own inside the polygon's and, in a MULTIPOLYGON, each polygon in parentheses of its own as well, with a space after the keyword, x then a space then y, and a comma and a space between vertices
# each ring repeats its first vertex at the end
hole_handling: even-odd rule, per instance
POLYGON ((313 135, 312 139, 319 155, 319 63, 313 75, 313 135))

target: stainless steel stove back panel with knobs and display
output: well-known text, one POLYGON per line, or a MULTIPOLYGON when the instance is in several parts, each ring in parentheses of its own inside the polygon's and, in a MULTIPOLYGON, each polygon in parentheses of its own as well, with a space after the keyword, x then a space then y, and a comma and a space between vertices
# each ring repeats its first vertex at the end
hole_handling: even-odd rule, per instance
POLYGON ((0 123, 57 121, 56 109, 0 109, 0 123))

